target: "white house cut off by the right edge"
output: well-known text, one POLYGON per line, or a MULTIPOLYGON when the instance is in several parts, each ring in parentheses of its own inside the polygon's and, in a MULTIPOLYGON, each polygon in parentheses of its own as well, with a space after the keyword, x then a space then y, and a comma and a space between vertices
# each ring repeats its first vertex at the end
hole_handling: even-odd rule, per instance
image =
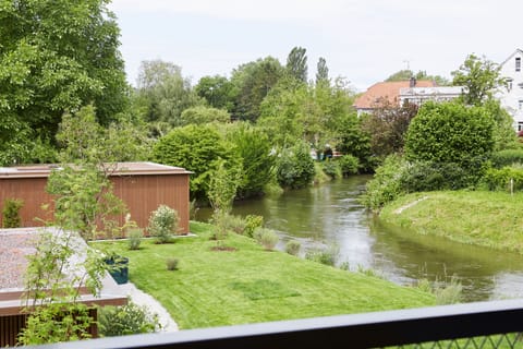
POLYGON ((497 93, 501 106, 513 118, 516 131, 523 130, 523 50, 516 49, 500 64, 500 76, 507 79, 507 88, 497 93))

